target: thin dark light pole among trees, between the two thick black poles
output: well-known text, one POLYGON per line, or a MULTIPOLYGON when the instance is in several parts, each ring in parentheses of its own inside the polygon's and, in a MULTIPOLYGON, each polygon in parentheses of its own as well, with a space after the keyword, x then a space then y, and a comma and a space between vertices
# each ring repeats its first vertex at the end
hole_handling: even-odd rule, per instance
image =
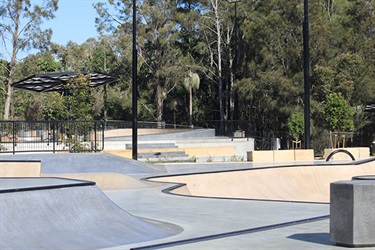
POLYGON ((229 101, 229 112, 230 112, 230 132, 233 133, 233 120, 234 120, 234 106, 235 106, 235 90, 234 84, 237 78, 237 67, 238 67, 238 34, 237 34, 237 2, 241 0, 228 0, 229 3, 234 3, 234 20, 233 20, 233 33, 234 33, 234 60, 233 60, 233 80, 230 88, 230 101, 229 101))

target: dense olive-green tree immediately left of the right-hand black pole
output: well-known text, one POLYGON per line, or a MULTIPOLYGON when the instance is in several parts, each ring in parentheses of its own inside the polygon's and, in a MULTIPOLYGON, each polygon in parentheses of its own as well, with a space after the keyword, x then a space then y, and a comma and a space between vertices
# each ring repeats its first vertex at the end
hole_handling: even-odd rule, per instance
POLYGON ((277 132, 303 105, 302 3, 256 1, 242 6, 244 70, 239 105, 253 132, 277 132))

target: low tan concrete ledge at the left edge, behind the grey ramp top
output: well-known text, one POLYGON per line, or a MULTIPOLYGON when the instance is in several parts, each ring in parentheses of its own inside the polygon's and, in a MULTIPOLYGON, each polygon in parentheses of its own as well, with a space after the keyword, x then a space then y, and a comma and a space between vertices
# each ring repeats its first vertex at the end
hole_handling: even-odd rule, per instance
POLYGON ((0 161, 0 177, 40 177, 41 161, 0 161))

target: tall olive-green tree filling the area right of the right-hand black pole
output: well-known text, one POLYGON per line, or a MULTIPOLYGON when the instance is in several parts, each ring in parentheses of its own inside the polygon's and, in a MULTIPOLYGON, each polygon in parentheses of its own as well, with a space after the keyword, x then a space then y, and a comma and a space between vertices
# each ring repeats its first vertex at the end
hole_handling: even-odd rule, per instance
POLYGON ((313 121, 321 134, 327 128, 327 100, 340 93, 351 106, 348 110, 356 111, 354 129, 367 131, 366 141, 371 114, 363 110, 375 92, 374 1, 316 2, 312 7, 315 24, 310 32, 320 34, 311 38, 313 121))

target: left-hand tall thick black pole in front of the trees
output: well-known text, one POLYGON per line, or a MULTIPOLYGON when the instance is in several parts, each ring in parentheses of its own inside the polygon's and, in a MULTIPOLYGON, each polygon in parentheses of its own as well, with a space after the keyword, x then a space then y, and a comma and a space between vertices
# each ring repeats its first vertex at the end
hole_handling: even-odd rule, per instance
POLYGON ((138 122, 137 122, 137 4, 136 0, 133 0, 133 100, 132 100, 132 158, 138 159, 138 122))

